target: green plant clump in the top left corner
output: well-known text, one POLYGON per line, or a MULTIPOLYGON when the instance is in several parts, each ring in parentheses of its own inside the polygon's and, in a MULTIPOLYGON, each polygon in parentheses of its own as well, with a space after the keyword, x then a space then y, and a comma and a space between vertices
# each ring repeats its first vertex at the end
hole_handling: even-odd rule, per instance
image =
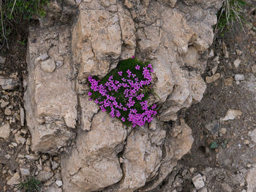
POLYGON ((32 15, 45 15, 42 6, 49 0, 0 0, 0 49, 4 43, 8 47, 8 36, 22 20, 32 15))

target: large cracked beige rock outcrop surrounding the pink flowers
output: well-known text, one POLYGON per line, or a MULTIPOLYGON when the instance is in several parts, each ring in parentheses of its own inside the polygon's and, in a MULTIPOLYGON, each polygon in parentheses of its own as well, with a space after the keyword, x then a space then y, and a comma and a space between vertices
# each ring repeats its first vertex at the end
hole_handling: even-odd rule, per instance
MULTIPOLYGON (((50 2, 41 28, 29 29, 25 110, 32 150, 67 151, 61 155, 64 191, 150 191, 173 171, 193 143, 177 112, 200 101, 206 90, 201 74, 220 6, 221 1, 50 2), (154 102, 161 110, 150 125, 131 130, 89 101, 86 77, 104 77, 132 55, 153 64, 159 96, 154 102), (171 126, 170 120, 179 123, 171 126)), ((39 170, 39 180, 52 180, 49 171, 39 170)))

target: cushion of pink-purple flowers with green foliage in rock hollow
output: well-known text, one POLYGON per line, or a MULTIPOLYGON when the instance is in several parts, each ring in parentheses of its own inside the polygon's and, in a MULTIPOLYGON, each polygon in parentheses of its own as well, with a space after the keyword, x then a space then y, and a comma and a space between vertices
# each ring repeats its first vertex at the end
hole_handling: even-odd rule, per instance
POLYGON ((120 61, 102 80, 89 77, 90 99, 99 104, 102 112, 109 112, 124 124, 144 126, 157 115, 156 104, 148 106, 151 94, 151 64, 144 64, 136 58, 120 61))

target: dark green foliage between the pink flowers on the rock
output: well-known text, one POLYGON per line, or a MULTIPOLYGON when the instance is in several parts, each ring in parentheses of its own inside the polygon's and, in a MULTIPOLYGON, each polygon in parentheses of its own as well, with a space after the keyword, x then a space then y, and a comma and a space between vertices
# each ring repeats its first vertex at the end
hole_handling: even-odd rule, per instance
MULTIPOLYGON (((116 68, 112 69, 105 77, 102 78, 102 80, 100 80, 99 85, 100 84, 105 85, 105 83, 108 82, 108 79, 110 76, 113 76, 113 80, 117 80, 119 82, 122 82, 122 80, 121 80, 122 78, 133 80, 134 78, 127 77, 128 69, 130 72, 132 72, 132 74, 136 74, 136 77, 138 77, 139 82, 141 80, 145 80, 145 78, 143 77, 143 67, 148 66, 148 64, 149 64, 149 61, 146 63, 143 63, 142 61, 139 61, 137 58, 128 58, 126 60, 119 61, 116 68), (135 69, 135 66, 137 66, 137 65, 140 66, 139 70, 135 69), (118 72, 122 72, 122 76, 118 75, 118 72)), ((95 80, 99 80, 98 77, 94 76, 93 78, 95 80)), ((90 85, 89 85, 89 87, 90 87, 90 85)), ((124 90, 125 90, 125 88, 121 87, 117 92, 110 91, 110 95, 116 97, 118 103, 121 103, 123 106, 126 106, 126 104, 128 102, 128 98, 125 98, 124 90)), ((99 91, 92 91, 91 88, 89 89, 89 91, 92 93, 91 99, 93 99, 93 100, 97 99, 98 101, 104 101, 104 99, 106 99, 106 97, 101 96, 99 91)), ((143 113, 144 111, 141 109, 140 102, 148 100, 148 98, 149 98, 149 96, 151 96, 151 94, 153 94, 154 96, 157 96, 157 93, 154 92, 154 88, 152 88, 151 85, 144 86, 142 89, 140 89, 140 91, 138 91, 137 94, 139 95, 140 93, 143 93, 144 97, 141 99, 141 101, 136 100, 133 108, 135 108, 138 111, 138 113, 143 113)), ((110 107, 106 107, 105 110, 108 113, 110 113, 110 111, 111 111, 110 107)), ((121 111, 121 116, 118 119, 121 120, 121 117, 124 117, 127 119, 128 115, 129 115, 129 110, 121 111)), ((126 125, 126 126, 130 126, 132 124, 128 120, 126 120, 124 122, 121 121, 121 122, 124 123, 124 125, 126 125)))

